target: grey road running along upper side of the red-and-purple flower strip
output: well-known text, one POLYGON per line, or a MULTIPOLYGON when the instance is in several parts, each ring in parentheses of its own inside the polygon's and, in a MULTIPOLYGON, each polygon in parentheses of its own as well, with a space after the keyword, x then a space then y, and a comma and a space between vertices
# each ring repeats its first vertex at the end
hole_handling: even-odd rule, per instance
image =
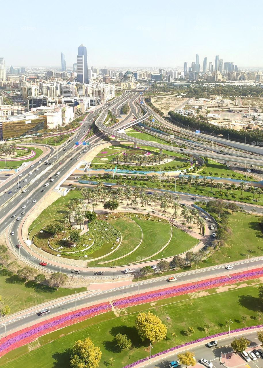
MULTIPOLYGON (((251 258, 249 259, 249 262, 245 259, 243 261, 232 262, 231 264, 234 266, 234 270, 232 271, 226 270, 224 268, 225 265, 217 265, 217 266, 212 266, 208 268, 201 268, 197 270, 190 270, 186 272, 176 273, 175 276, 180 283, 187 283, 187 282, 193 282, 195 280, 199 281, 201 279, 209 279, 211 277, 216 277, 216 276, 230 275, 231 273, 247 270, 248 266, 249 268, 262 267, 263 256, 257 257, 255 259, 251 258)), ((168 282, 167 279, 168 277, 164 276, 164 277, 159 277, 157 279, 149 279, 145 281, 140 281, 139 283, 133 283, 131 285, 120 286, 120 287, 115 286, 113 289, 109 289, 109 290, 87 292, 87 294, 85 295, 81 294, 80 296, 77 296, 76 301, 75 301, 75 298, 72 297, 72 299, 68 301, 59 302, 55 304, 52 302, 47 302, 45 305, 45 308, 50 309, 50 315, 42 316, 40 318, 39 315, 37 314, 39 312, 39 309, 33 308, 32 311, 27 312, 25 315, 20 316, 19 318, 14 318, 14 317, 10 317, 9 319, 7 318, 7 321, 6 321, 7 332, 13 329, 18 329, 18 328, 20 329, 25 324, 34 325, 37 322, 40 322, 40 321, 42 322, 43 320, 45 321, 48 318, 52 318, 52 315, 55 315, 55 314, 63 314, 68 311, 73 311, 75 310, 75 302, 76 302, 76 307, 78 309, 78 308, 84 307, 87 304, 94 305, 94 304, 98 304, 105 300, 109 301, 109 300, 114 300, 116 298, 121 298, 121 297, 129 296, 129 295, 136 295, 138 294, 138 291, 139 293, 141 293, 149 289, 157 290, 157 289, 161 289, 162 287, 167 287, 168 285, 170 286, 170 283, 168 282)), ((172 285, 175 285, 175 283, 171 284, 171 286, 172 285)), ((3 333, 4 333, 4 321, 0 325, 0 334, 3 334, 3 333)))

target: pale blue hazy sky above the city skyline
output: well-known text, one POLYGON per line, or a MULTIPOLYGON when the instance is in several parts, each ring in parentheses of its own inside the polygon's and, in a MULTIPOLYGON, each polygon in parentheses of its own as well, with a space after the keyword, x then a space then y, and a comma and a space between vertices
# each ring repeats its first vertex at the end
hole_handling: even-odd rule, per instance
POLYGON ((0 57, 9 66, 183 66, 196 53, 263 67, 262 1, 1 1, 0 57))

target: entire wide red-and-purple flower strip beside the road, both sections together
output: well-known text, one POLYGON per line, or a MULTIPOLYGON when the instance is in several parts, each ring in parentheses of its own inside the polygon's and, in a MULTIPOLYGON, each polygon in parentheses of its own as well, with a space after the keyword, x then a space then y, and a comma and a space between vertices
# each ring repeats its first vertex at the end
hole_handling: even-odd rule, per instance
MULTIPOLYGON (((14 350, 15 348, 31 343, 40 336, 46 335, 63 327, 73 325, 74 323, 84 321, 96 315, 110 312, 112 308, 126 308, 132 305, 144 304, 156 300, 159 301, 162 299, 180 296, 183 294, 213 289, 215 287, 225 286, 229 284, 235 284, 249 279, 257 279, 262 276, 263 268, 258 268, 250 271, 234 273, 229 276, 213 278, 209 281, 200 281, 196 284, 187 283, 181 286, 173 286, 168 289, 160 289, 143 293, 138 296, 121 298, 119 300, 113 301, 112 304, 110 302, 104 302, 96 306, 79 309, 76 312, 74 311, 63 314, 62 316, 56 316, 54 318, 48 319, 45 322, 37 323, 34 326, 30 326, 23 330, 14 332, 11 335, 8 335, 7 338, 3 337, 0 340, 0 357, 11 350, 14 350)), ((220 336, 220 334, 217 336, 220 336)), ((132 367, 132 365, 129 367, 132 367)))

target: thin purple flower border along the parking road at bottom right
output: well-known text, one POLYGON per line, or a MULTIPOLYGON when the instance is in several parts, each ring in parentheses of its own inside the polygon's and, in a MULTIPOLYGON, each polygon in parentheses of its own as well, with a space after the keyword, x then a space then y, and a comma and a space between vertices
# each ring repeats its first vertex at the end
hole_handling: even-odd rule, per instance
MULTIPOLYGON (((253 330, 253 329, 262 328, 262 327, 263 327, 263 325, 237 328, 235 330, 231 330, 230 333, 235 333, 235 332, 240 332, 240 331, 247 331, 247 330, 253 330)), ((224 335, 228 335, 228 334, 229 334, 229 331, 224 331, 224 332, 220 332, 220 333, 215 333, 214 335, 202 337, 201 339, 189 341, 189 342, 187 342, 185 344, 177 345, 177 346, 171 347, 170 349, 167 349, 167 350, 164 350, 164 351, 160 351, 157 354, 153 354, 153 355, 151 355, 151 358, 156 358, 156 357, 159 357, 160 355, 170 353, 170 352, 172 352, 174 350, 177 350, 177 349, 180 349, 182 347, 189 346, 189 345, 192 345, 192 344, 195 344, 195 343, 201 343, 202 341, 210 340, 210 339, 215 339, 215 337, 220 337, 220 336, 224 336, 224 335)), ((140 360, 137 360, 134 363, 125 365, 125 367, 123 367, 123 368, 132 368, 132 367, 135 367, 136 365, 138 365, 140 363, 146 362, 147 360, 149 360, 148 357, 147 358, 140 359, 140 360)))

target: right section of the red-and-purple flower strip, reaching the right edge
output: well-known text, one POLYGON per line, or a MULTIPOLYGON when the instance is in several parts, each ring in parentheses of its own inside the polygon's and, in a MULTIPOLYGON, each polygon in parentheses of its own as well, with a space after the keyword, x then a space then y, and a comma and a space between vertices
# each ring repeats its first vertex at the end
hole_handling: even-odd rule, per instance
POLYGON ((224 285, 234 284, 243 280, 256 279, 263 276, 263 268, 257 268, 255 270, 238 272, 228 276, 214 277, 209 281, 199 281, 197 283, 189 283, 180 286, 168 287, 167 289, 159 289, 154 291, 148 291, 140 295, 134 295, 124 297, 121 299, 113 300, 112 305, 115 308, 126 308, 133 305, 148 303, 165 298, 171 298, 178 295, 194 293, 196 291, 212 289, 214 287, 220 287, 224 285))

